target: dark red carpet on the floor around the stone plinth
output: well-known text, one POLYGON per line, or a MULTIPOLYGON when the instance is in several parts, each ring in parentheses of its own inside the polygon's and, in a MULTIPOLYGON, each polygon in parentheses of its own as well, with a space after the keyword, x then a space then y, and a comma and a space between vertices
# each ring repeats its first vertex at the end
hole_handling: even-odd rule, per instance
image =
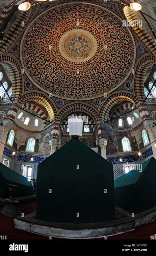
MULTIPOLYGON (((28 203, 21 205, 21 212, 24 214, 31 213, 36 210, 36 203, 28 203)), ((22 231, 14 228, 13 218, 5 216, 1 213, 2 207, 0 208, 0 235, 7 236, 7 239, 49 239, 45 236, 35 235, 26 231, 22 231)), ((107 239, 147 239, 150 240, 150 236, 156 233, 156 220, 142 225, 135 229, 135 231, 127 232, 121 235, 111 236, 107 239)), ((55 239, 55 238, 54 238, 55 239)), ((103 239, 103 238, 101 238, 103 239)))

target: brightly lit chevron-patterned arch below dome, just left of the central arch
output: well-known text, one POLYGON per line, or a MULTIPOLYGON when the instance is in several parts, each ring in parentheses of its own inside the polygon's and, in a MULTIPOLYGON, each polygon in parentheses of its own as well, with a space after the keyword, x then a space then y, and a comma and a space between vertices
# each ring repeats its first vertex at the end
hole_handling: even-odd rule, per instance
POLYGON ((41 104, 47 110, 50 121, 56 118, 56 115, 57 115, 56 109, 52 104, 52 102, 44 94, 39 92, 31 92, 31 93, 24 94, 20 99, 20 103, 22 105, 22 103, 26 103, 27 101, 34 101, 41 104))

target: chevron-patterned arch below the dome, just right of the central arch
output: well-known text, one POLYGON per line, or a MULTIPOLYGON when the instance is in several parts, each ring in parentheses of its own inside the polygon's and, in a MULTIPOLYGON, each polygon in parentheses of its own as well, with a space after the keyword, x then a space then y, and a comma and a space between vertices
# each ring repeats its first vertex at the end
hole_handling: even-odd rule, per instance
POLYGON ((110 112, 111 108, 120 101, 130 101, 133 104, 135 104, 135 101, 138 103, 136 97, 132 94, 126 93, 126 92, 121 92, 118 94, 113 94, 108 99, 103 103, 102 108, 99 112, 100 118, 102 121, 106 122, 107 121, 107 116, 108 113, 110 112))

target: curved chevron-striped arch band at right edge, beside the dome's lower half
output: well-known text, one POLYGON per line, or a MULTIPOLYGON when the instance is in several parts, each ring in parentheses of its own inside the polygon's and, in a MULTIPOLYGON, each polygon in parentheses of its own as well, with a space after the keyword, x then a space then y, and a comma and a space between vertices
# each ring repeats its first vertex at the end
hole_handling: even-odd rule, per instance
POLYGON ((145 56, 143 59, 140 60, 136 67, 135 71, 135 79, 134 79, 134 88, 137 98, 140 101, 143 101, 145 99, 144 95, 144 78, 146 75, 146 70, 148 67, 151 66, 151 64, 155 63, 155 57, 154 56, 145 56))

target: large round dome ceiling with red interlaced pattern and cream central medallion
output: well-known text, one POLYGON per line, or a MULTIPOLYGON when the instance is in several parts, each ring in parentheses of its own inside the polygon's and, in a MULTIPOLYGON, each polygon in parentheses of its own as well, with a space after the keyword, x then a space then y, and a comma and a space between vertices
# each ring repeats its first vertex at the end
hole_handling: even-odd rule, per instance
POLYGON ((39 15, 25 31, 23 68, 40 89, 72 100, 100 97, 124 82, 135 62, 127 27, 112 12, 65 4, 39 15))

